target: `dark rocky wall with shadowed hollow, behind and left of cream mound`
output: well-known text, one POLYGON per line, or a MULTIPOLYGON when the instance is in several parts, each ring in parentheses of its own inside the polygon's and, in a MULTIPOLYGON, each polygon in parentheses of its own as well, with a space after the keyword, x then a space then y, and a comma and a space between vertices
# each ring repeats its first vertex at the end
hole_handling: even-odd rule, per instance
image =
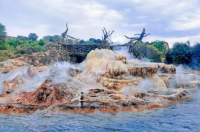
POLYGON ((33 66, 50 65, 57 61, 69 61, 71 63, 81 63, 87 54, 101 49, 102 45, 81 45, 81 44, 58 44, 52 43, 47 46, 47 52, 34 53, 27 56, 27 62, 33 66))

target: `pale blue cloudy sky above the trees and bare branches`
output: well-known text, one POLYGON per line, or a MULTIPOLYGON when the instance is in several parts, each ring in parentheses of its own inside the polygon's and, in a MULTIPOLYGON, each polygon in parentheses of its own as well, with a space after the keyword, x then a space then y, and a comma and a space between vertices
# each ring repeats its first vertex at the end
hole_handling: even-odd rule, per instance
POLYGON ((200 42, 200 0, 0 0, 0 23, 8 36, 36 33, 39 38, 66 29, 75 38, 102 38, 126 43, 146 29, 144 41, 200 42))

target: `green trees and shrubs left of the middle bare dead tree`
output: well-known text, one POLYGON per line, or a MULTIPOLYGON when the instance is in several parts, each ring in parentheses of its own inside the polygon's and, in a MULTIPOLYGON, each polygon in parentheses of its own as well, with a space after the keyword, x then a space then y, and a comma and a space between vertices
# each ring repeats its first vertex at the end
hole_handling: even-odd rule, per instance
MULTIPOLYGON (((59 35, 47 35, 38 40, 36 33, 30 33, 28 36, 10 37, 7 36, 6 26, 0 23, 0 61, 45 51, 45 46, 56 42, 59 37, 59 35)), ((67 42, 69 44, 100 44, 101 40, 94 38, 90 38, 88 41, 69 39, 67 42)))

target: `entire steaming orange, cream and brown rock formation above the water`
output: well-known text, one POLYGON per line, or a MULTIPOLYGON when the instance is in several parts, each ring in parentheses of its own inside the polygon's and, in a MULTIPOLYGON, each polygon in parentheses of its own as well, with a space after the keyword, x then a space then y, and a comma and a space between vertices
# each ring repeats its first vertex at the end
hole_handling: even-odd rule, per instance
POLYGON ((129 61, 111 50, 91 51, 82 65, 82 70, 55 65, 48 73, 29 66, 27 74, 3 82, 0 113, 143 111, 188 100, 199 87, 198 74, 183 84, 172 65, 129 61))

